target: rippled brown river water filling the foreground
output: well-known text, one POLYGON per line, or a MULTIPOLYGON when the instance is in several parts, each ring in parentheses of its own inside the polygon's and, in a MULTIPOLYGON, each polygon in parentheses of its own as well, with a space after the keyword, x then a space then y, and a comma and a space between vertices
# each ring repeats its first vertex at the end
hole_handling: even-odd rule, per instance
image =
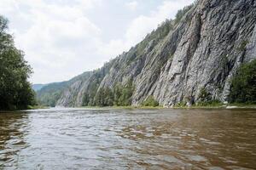
POLYGON ((0 113, 0 169, 255 169, 256 110, 0 113))

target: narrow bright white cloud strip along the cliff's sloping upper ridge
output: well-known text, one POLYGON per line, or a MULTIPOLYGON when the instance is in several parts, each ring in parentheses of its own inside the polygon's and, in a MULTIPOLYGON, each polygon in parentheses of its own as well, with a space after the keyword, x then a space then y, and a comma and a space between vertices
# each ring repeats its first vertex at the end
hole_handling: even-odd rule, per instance
MULTIPOLYGON (((157 28, 157 26, 166 19, 174 18, 177 10, 193 3, 194 0, 171 0, 164 1, 159 7, 152 10, 148 15, 139 15, 125 31, 125 37, 113 39, 100 49, 102 54, 117 56, 123 51, 129 50, 138 42, 141 42, 146 35, 157 28)), ((131 2, 132 3, 132 2, 131 2)))

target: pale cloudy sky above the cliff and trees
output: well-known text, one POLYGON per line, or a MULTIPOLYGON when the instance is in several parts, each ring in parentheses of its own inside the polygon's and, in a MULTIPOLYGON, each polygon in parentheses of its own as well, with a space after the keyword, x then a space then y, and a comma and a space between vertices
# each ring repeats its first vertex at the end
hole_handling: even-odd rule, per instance
POLYGON ((69 80, 128 51, 194 0, 1 0, 32 83, 69 80))

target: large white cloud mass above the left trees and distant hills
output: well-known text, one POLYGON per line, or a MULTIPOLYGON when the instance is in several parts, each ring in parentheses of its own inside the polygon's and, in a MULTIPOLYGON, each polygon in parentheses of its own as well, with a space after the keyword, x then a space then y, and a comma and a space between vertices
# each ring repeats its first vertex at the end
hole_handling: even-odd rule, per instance
MULTIPOLYGON (((14 32, 16 45, 26 52, 26 60, 33 67, 32 82, 61 81, 83 72, 86 68, 81 63, 90 60, 100 43, 102 31, 84 15, 84 10, 101 1, 80 0, 71 5, 61 2, 3 0, 0 3, 3 14, 11 20, 10 28, 15 28, 10 31, 14 32), (14 22, 17 19, 20 26, 13 25, 18 24, 14 22), (58 76, 52 76, 53 71, 58 76)), ((94 68, 92 65, 87 69, 94 68)))

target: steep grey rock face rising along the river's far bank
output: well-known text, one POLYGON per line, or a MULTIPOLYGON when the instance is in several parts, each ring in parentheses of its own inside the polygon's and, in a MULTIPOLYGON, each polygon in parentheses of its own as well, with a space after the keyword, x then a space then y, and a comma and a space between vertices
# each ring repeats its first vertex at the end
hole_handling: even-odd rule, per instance
POLYGON ((200 0, 183 12, 181 20, 167 20, 127 53, 73 82, 57 105, 81 106, 85 94, 129 81, 132 105, 150 95, 160 105, 190 105, 202 88, 224 102, 236 69, 256 59, 256 1, 200 0))

